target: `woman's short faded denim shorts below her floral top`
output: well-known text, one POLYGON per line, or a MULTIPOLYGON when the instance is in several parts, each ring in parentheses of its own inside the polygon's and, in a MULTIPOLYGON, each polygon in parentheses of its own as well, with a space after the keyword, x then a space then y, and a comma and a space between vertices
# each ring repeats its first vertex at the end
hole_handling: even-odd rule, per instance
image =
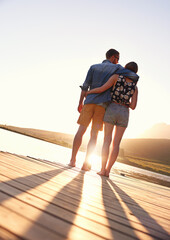
POLYGON ((110 103, 104 115, 104 122, 127 127, 129 121, 129 108, 120 104, 110 103))

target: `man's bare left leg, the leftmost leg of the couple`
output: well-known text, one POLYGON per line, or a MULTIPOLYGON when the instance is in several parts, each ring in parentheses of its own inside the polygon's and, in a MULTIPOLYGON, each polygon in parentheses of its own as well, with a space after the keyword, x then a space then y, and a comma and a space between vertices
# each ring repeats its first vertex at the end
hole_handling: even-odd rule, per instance
POLYGON ((84 135, 86 129, 87 129, 86 126, 80 125, 78 128, 78 131, 74 137, 73 147, 72 147, 72 156, 71 156, 71 160, 69 163, 69 166, 71 166, 71 167, 75 167, 77 152, 81 146, 82 138, 83 138, 83 135, 84 135))

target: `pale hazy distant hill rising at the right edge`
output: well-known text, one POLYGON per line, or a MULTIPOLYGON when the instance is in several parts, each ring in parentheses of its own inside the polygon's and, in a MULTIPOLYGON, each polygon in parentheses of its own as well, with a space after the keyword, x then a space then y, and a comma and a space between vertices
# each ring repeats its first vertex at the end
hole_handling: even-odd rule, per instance
POLYGON ((152 128, 147 129, 140 138, 156 138, 156 139, 170 139, 170 124, 158 123, 152 128))

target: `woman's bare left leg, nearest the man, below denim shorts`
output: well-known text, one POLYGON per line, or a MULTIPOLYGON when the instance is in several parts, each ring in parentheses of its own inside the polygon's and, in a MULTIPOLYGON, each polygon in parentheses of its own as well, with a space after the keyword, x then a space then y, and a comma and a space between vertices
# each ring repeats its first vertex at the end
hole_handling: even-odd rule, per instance
POLYGON ((98 172, 99 175, 105 175, 106 163, 109 157, 109 149, 112 141, 113 127, 114 127, 113 124, 110 124, 107 122, 104 123, 104 141, 102 146, 102 167, 101 167, 101 171, 98 172))

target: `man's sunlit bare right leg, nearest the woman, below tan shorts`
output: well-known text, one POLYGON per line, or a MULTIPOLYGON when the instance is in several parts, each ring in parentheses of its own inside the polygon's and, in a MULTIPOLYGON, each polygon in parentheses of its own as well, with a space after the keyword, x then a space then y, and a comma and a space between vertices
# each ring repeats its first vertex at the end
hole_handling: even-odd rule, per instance
POLYGON ((89 140, 88 145, 87 145, 85 161, 84 161, 83 166, 81 168, 82 170, 89 171, 91 169, 91 164, 89 162, 89 158, 90 158, 90 156, 91 156, 91 154, 94 151, 94 148, 96 146, 98 132, 99 132, 99 130, 96 130, 96 129, 91 130, 90 140, 89 140))

